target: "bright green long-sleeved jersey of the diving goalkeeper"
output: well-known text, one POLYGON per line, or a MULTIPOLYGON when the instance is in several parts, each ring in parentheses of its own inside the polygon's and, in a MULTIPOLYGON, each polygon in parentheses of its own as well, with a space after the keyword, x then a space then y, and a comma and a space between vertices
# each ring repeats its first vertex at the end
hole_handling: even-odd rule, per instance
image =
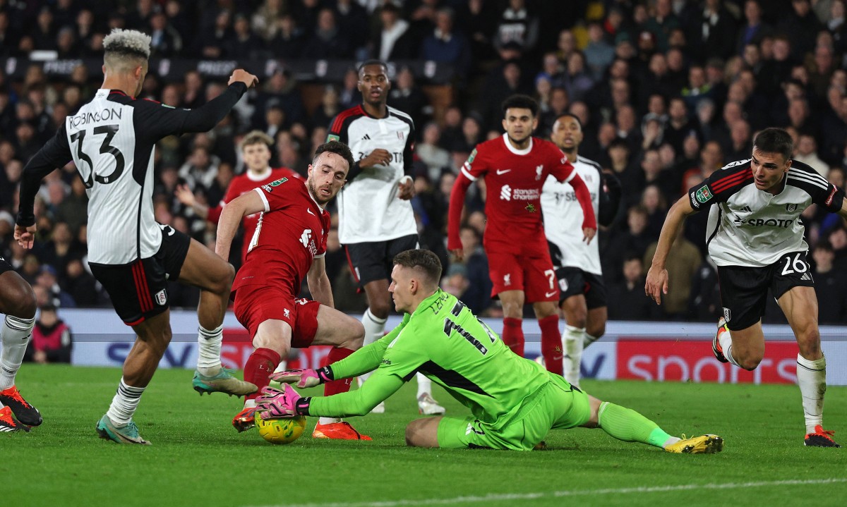
POLYGON ((335 378, 374 368, 357 391, 313 398, 310 415, 367 414, 421 372, 479 421, 498 426, 550 382, 544 367, 514 354, 462 301, 441 289, 384 338, 332 365, 335 378))

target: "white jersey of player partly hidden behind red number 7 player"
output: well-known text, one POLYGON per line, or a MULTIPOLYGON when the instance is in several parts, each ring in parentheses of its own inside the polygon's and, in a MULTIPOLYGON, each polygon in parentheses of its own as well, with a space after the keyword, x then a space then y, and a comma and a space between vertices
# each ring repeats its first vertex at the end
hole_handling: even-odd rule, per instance
MULTIPOLYGON (((585 157, 578 156, 572 163, 588 187, 596 217, 600 212, 602 168, 599 163, 585 157)), ((583 240, 583 211, 573 187, 548 176, 541 189, 541 212, 553 266, 556 269, 579 267, 584 272, 600 275, 599 242, 595 238, 586 245, 583 240)))

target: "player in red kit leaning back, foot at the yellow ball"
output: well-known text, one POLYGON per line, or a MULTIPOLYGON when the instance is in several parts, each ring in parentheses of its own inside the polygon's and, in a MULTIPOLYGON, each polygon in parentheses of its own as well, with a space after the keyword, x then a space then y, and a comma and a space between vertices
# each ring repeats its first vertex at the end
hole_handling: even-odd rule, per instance
MULTIPOLYGON (((277 179, 230 201, 221 213, 215 252, 224 259, 230 256, 241 218, 262 213, 232 285, 235 317, 256 347, 244 366, 244 378, 260 388, 268 385, 269 375, 291 347, 333 345, 329 361, 340 361, 362 346, 362 322, 333 308, 324 264, 330 226, 324 207, 344 186, 352 164, 350 148, 329 141, 315 151, 305 182, 277 179), (303 277, 313 301, 296 298, 303 277)), ((344 378, 327 383, 324 394, 349 390, 350 379, 344 378)), ((238 431, 254 426, 257 396, 248 394, 244 410, 232 420, 238 431)), ((336 417, 321 417, 312 436, 370 440, 336 417)))

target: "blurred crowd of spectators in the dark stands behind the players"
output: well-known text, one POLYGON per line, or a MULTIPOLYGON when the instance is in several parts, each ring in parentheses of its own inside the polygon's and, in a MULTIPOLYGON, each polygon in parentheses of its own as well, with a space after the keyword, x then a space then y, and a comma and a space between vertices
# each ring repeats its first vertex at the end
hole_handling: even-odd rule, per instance
MULTIPOLYGON (((355 64, 363 58, 450 64, 451 101, 436 110, 424 76, 398 68, 389 105, 414 118, 413 201, 422 242, 445 262, 445 288, 474 311, 498 315, 481 239, 482 193, 468 196, 462 229, 465 261, 449 263, 447 202, 458 168, 480 141, 501 135, 503 99, 527 93, 541 104, 536 135, 557 115, 584 125, 579 155, 623 183, 616 223, 601 230, 601 256, 612 319, 711 322, 720 312, 717 275, 706 255, 706 213, 686 223, 668 262, 671 292, 655 306, 644 274, 670 203, 725 163, 750 157, 757 130, 783 127, 794 158, 833 184, 847 167, 847 23, 844 0, 0 0, 0 63, 17 58, 21 80, 0 65, 0 255, 36 289, 39 305, 104 306, 88 272, 86 193, 72 163, 51 174, 36 203, 36 248, 14 244, 17 185, 26 161, 68 114, 92 96, 102 75, 80 65, 64 78, 39 58, 100 58, 114 27, 152 35, 152 58, 279 58, 271 75, 207 134, 171 137, 156 152, 156 217, 213 245, 214 228, 174 189, 217 203, 244 168, 238 141, 258 129, 275 140, 272 165, 305 173, 331 118, 361 102, 355 64), (52 52, 52 53, 51 53, 52 52), (307 107, 286 60, 347 59, 340 82, 325 82, 307 107)), ((190 71, 161 80, 152 66, 142 96, 197 107, 225 86, 190 71)), ((337 217, 335 217, 337 220, 337 217)), ((823 323, 847 322, 847 230, 812 206, 804 216, 823 323)), ((233 252, 240 249, 233 248, 233 252)), ((234 256, 231 262, 240 260, 234 256)), ((327 268, 335 302, 363 311, 337 234, 327 268)), ((197 292, 171 287, 174 306, 197 292)), ((781 313, 772 311, 771 322, 781 313)))

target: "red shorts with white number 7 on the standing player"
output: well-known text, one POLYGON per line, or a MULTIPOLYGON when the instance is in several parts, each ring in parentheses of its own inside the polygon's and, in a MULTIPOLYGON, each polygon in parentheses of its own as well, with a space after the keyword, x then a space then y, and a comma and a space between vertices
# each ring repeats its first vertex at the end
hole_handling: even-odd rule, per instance
POLYGON ((510 253, 486 252, 491 277, 491 297, 505 290, 523 290, 526 302, 559 301, 559 286, 550 253, 518 256, 510 253))

